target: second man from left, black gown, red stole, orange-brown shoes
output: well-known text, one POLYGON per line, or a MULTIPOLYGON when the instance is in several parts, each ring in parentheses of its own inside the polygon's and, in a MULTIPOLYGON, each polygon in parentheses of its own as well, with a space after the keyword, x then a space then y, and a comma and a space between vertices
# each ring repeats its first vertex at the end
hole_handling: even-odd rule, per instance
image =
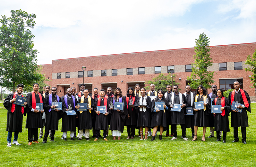
POLYGON ((37 110, 36 103, 43 103, 44 96, 38 92, 39 84, 33 84, 33 91, 27 95, 27 121, 26 128, 28 129, 29 145, 32 145, 32 141, 39 143, 38 140, 38 128, 43 127, 43 112, 44 110, 37 110))

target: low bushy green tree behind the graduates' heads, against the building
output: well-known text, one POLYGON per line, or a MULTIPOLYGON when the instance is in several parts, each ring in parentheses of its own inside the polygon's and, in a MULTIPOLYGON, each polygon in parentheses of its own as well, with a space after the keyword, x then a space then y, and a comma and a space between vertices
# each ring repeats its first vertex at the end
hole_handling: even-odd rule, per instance
MULTIPOLYGON (((178 82, 175 82, 176 75, 173 74, 173 85, 180 85, 178 82)), ((164 74, 159 73, 155 78, 152 78, 152 80, 147 80, 145 84, 154 84, 155 85, 155 91, 166 91, 166 85, 172 85, 172 75, 171 73, 164 74)), ((146 89, 150 89, 150 86, 145 87, 146 89)))

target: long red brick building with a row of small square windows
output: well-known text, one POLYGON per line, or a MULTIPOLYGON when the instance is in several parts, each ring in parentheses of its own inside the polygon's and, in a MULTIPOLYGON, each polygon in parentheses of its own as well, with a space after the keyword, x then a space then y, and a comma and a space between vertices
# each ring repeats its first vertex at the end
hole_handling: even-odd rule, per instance
MULTIPOLYGON (((242 87, 249 93, 251 100, 255 100, 255 88, 250 87, 251 72, 244 70, 247 67, 244 64, 246 57, 252 56, 255 48, 256 42, 211 46, 213 65, 208 70, 216 73, 215 85, 226 90, 238 80, 243 83, 242 87)), ((105 90, 107 87, 120 87, 126 94, 128 87, 134 87, 135 84, 144 87, 145 81, 154 78, 159 72, 173 70, 183 93, 188 83, 186 78, 191 74, 194 54, 194 48, 185 48, 59 59, 53 60, 52 64, 42 65, 42 73, 50 80, 48 85, 57 87, 57 95, 63 96, 69 87, 74 86, 79 91, 83 80, 82 66, 86 67, 84 83, 89 93, 94 87, 105 90)))

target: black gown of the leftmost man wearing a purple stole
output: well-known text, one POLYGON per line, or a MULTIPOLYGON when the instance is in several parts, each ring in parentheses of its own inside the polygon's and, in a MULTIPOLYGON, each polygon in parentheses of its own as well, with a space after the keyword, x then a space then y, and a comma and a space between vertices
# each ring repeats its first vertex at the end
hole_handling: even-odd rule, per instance
MULTIPOLYGON (((52 95, 52 102, 55 100, 58 101, 57 96, 52 95)), ((59 102, 61 102, 61 98, 59 102)), ((51 105, 49 104, 49 95, 46 95, 44 99, 44 111, 46 115, 45 130, 57 131, 59 127, 59 113, 61 113, 61 111, 55 111, 54 109, 51 109, 49 112, 49 109, 51 109, 51 105)))

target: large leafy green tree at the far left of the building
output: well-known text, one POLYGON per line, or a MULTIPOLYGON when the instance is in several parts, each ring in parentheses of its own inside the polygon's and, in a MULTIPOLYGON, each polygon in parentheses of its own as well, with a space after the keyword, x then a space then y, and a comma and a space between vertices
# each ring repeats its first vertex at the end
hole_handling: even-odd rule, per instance
POLYGON ((35 14, 11 10, 11 17, 2 16, 0 23, 0 86, 31 85, 41 80, 38 73, 37 53, 33 49, 35 37, 29 29, 35 26, 35 14))

